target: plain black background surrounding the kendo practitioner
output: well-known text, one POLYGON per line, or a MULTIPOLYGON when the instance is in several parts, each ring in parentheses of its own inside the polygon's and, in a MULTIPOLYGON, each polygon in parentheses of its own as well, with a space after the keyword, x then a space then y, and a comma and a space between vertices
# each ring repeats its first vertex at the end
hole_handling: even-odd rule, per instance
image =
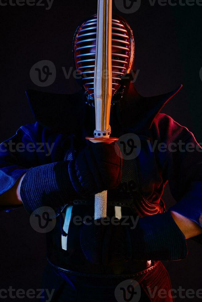
MULTIPOLYGON (((62 67, 68 70, 74 66, 71 43, 75 29, 96 10, 97 3, 92 0, 55 0, 50 10, 43 6, 0 6, 0 141, 14 135, 21 125, 34 121, 24 93, 27 88, 55 93, 78 90, 72 74, 70 79, 65 79, 62 67), (29 75, 30 68, 40 60, 51 60, 57 70, 54 84, 43 89, 34 85, 29 75)), ((122 14, 114 3, 113 11, 126 18, 134 31, 135 69, 139 70, 136 89, 143 96, 152 96, 183 84, 163 112, 188 127, 196 140, 202 142, 202 82, 199 76, 202 67, 202 6, 160 6, 158 3, 151 6, 148 0, 144 0, 133 14, 122 14)), ((174 203, 168 187, 164 199, 167 206, 174 203)), ((46 264, 45 237, 31 228, 24 209, 0 214, 0 240, 0 288, 40 288, 46 264)), ((165 263, 165 266, 173 288, 182 286, 196 291, 202 288, 202 247, 192 240, 188 240, 188 247, 187 259, 165 263)))

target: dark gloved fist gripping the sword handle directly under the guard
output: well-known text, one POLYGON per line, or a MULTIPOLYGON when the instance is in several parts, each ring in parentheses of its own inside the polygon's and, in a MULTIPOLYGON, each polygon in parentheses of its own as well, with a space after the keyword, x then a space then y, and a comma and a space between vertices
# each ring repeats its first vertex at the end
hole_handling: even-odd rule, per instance
POLYGON ((116 143, 90 142, 69 163, 71 183, 83 197, 113 189, 121 181, 122 164, 122 154, 116 143))

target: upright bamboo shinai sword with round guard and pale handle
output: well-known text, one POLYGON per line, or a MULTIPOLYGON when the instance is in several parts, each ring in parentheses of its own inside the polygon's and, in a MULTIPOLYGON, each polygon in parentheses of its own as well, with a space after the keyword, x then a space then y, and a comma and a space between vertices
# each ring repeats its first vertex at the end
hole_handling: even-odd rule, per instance
MULTIPOLYGON (((98 0, 97 39, 94 75, 95 122, 93 143, 110 144, 118 138, 110 137, 109 125, 112 97, 111 67, 112 0, 98 0)), ((95 194, 95 219, 107 216, 107 191, 95 194)))

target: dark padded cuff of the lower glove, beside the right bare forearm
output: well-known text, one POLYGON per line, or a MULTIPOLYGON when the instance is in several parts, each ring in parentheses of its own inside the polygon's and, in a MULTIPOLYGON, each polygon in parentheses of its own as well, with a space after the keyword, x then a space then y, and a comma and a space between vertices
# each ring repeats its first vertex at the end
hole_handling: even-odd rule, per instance
POLYGON ((134 259, 180 260, 188 254, 185 236, 169 211, 139 218, 131 232, 134 259))

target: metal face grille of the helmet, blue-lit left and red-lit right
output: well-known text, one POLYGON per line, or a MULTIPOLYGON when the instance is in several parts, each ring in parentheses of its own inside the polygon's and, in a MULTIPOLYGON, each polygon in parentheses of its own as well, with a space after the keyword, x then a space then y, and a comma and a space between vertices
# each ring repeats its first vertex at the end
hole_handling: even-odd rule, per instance
MULTIPOLYGON (((96 30, 97 15, 94 15, 77 28, 73 41, 76 69, 91 98, 94 98, 96 30)), ((135 43, 130 26, 123 18, 112 17, 112 96, 120 87, 121 77, 130 73, 134 53, 135 43)))

